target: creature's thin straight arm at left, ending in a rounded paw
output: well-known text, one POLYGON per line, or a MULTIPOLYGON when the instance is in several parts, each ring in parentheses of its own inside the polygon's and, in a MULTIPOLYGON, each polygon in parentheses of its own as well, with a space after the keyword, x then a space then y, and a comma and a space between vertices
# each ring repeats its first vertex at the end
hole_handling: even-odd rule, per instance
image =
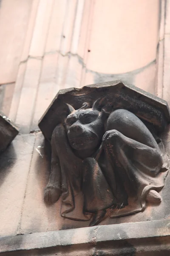
POLYGON ((57 155, 55 130, 51 138, 51 173, 48 180, 48 184, 45 188, 44 200, 48 204, 54 204, 58 201, 61 195, 61 169, 59 158, 57 155))

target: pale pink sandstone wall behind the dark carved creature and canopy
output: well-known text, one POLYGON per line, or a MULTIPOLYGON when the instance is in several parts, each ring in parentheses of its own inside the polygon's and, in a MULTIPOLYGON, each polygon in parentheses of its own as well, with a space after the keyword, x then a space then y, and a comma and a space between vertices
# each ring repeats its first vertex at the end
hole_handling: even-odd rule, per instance
POLYGON ((43 202, 37 122, 58 90, 123 79, 170 101, 169 45, 170 0, 0 1, 0 110, 20 126, 0 164, 0 236, 71 225, 43 202))

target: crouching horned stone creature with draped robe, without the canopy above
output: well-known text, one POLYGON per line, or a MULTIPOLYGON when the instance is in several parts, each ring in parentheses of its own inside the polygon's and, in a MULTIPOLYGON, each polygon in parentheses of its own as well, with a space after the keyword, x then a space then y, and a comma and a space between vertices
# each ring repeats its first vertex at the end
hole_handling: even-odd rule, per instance
POLYGON ((62 217, 92 219, 90 225, 140 212, 146 201, 160 202, 167 175, 150 126, 130 111, 100 103, 77 110, 67 104, 69 114, 52 134, 45 189, 48 203, 62 197, 62 217))

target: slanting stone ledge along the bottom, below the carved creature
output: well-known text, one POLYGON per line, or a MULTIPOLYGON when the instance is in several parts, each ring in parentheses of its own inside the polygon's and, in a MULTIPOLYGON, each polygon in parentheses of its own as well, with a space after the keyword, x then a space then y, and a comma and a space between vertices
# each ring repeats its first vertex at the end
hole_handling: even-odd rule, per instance
POLYGON ((57 255, 82 255, 83 252, 83 255, 91 256, 166 256, 170 253, 170 220, 103 225, 0 238, 0 255, 20 256, 26 253, 32 256, 34 250, 36 253, 38 250, 42 256, 47 255, 46 253, 51 256, 54 252, 57 255))

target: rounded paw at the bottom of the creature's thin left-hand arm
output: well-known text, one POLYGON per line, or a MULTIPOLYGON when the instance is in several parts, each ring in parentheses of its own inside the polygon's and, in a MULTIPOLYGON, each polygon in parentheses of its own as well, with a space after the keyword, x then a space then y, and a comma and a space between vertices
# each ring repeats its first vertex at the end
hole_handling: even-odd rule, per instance
POLYGON ((47 204, 54 204, 59 200, 61 189, 54 185, 47 185, 44 193, 44 201, 47 204))

